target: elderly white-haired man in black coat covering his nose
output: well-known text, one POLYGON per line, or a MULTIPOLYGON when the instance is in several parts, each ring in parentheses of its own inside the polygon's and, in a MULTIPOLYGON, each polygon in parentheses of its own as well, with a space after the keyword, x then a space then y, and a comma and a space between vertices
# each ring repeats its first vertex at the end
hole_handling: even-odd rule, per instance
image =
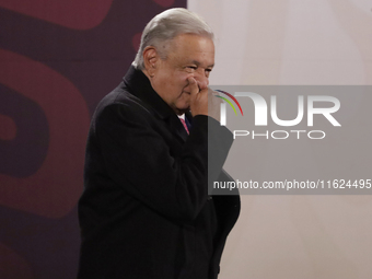
POLYGON ((156 15, 124 81, 98 104, 79 201, 78 278, 217 278, 240 199, 208 195, 208 181, 229 179, 232 144, 211 109, 218 98, 208 111, 212 39, 185 9, 156 15))

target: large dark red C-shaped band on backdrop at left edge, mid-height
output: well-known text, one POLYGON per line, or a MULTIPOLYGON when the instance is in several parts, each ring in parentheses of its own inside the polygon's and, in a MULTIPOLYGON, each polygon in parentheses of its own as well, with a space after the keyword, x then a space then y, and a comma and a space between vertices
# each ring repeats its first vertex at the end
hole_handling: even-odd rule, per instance
POLYGON ((0 174, 0 205, 61 218, 82 191, 86 103, 69 80, 40 62, 1 49, 0 61, 0 82, 36 102, 49 126, 48 153, 35 174, 25 178, 0 174))

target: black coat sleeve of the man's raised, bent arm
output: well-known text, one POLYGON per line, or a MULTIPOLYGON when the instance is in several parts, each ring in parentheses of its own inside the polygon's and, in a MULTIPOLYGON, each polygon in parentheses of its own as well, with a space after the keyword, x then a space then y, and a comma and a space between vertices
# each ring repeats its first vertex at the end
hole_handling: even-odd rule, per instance
POLYGON ((140 105, 106 106, 95 117, 94 137, 105 170, 118 187, 165 217, 194 220, 208 198, 208 126, 213 146, 209 160, 214 162, 209 178, 213 179, 221 172, 232 135, 208 116, 194 117, 181 152, 170 148, 140 105))

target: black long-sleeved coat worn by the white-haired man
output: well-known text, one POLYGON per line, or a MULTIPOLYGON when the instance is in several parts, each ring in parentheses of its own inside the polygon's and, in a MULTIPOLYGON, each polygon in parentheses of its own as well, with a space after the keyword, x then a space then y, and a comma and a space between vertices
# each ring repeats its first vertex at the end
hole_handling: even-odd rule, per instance
POLYGON ((208 116, 186 117, 189 136, 133 67, 98 104, 79 201, 78 278, 217 278, 240 199, 208 196, 207 181, 230 179, 221 168, 232 135, 208 116))

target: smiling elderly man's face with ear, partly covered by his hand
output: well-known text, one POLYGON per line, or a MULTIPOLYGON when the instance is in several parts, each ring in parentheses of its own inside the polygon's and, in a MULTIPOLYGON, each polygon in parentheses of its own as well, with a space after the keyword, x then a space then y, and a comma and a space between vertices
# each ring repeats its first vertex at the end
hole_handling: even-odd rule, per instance
POLYGON ((173 111, 181 115, 189 109, 190 88, 187 79, 194 78, 204 90, 214 65, 214 44, 210 38, 182 34, 172 40, 165 60, 158 59, 152 88, 173 111))

